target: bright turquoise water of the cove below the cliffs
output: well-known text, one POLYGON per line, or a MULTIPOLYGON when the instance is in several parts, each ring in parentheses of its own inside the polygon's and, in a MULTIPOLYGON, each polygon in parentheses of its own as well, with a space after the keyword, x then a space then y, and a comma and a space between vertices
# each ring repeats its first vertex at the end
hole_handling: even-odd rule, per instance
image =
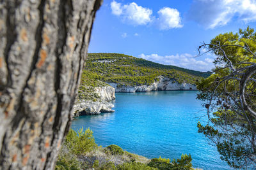
POLYGON ((230 169, 216 146, 197 132, 198 120, 207 117, 197 91, 116 93, 115 112, 74 118, 72 129, 90 127, 98 145, 118 145, 128 152, 180 158, 190 153, 193 167, 230 169))

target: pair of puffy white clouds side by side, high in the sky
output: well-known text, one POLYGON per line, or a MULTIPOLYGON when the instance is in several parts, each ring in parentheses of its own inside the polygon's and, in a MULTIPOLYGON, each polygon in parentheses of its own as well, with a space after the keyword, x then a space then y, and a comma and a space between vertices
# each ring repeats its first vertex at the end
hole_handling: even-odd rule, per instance
POLYGON ((169 7, 157 11, 159 15, 157 18, 152 15, 153 11, 146 7, 139 6, 136 3, 116 3, 113 0, 111 11, 113 15, 120 17, 123 22, 131 25, 156 25, 161 30, 182 27, 179 11, 169 7))

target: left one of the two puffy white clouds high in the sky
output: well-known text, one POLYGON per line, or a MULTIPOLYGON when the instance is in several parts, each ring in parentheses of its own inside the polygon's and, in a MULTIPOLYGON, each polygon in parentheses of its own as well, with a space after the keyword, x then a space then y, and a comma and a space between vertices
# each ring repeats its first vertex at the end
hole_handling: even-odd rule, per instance
POLYGON ((152 10, 138 6, 136 3, 122 5, 112 1, 111 10, 114 15, 121 16, 124 22, 132 25, 147 25, 151 22, 152 10))

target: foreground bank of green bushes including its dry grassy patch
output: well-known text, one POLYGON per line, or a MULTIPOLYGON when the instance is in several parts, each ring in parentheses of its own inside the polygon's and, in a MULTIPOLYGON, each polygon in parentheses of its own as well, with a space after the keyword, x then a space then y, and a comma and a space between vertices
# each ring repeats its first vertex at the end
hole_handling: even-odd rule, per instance
POLYGON ((65 138, 55 169, 133 170, 192 169, 191 156, 181 159, 151 159, 122 150, 117 145, 97 146, 90 129, 70 130, 65 138))

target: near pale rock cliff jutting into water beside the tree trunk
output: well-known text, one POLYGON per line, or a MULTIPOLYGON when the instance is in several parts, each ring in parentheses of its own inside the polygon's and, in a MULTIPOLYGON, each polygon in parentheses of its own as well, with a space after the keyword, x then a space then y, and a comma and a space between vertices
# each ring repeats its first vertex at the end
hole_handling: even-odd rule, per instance
POLYGON ((82 100, 76 103, 72 110, 73 117, 79 115, 96 115, 100 113, 113 112, 114 104, 111 103, 115 99, 115 89, 111 86, 95 87, 95 93, 100 97, 98 101, 82 100))

